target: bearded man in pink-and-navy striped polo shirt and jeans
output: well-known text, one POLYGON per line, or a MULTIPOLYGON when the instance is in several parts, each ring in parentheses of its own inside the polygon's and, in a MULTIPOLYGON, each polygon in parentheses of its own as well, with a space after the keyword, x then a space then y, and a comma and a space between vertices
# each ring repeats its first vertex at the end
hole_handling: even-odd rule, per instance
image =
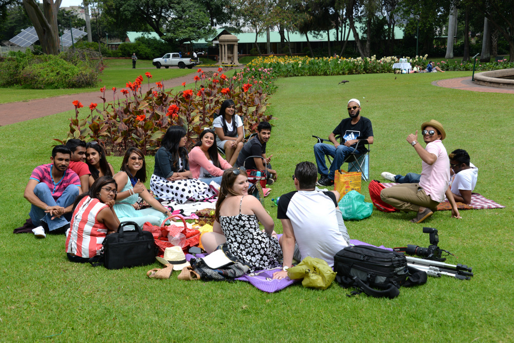
POLYGON ((29 216, 37 225, 32 230, 36 237, 45 238, 45 228, 64 233, 69 227, 73 202, 80 193, 80 179, 68 169, 70 155, 66 146, 55 146, 52 163, 36 167, 25 187, 23 196, 32 204, 29 216))

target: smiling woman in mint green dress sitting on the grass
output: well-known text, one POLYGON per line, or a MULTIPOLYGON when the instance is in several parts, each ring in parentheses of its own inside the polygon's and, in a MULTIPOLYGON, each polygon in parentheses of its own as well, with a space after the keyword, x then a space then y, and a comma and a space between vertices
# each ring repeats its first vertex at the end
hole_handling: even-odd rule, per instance
POLYGON ((170 210, 152 197, 144 186, 146 163, 141 150, 135 147, 128 149, 120 169, 121 172, 114 176, 118 183, 118 198, 113 208, 121 222, 135 221, 141 227, 147 221, 153 225, 160 225, 164 219, 171 216, 170 210), (152 207, 136 210, 133 205, 139 197, 152 207))

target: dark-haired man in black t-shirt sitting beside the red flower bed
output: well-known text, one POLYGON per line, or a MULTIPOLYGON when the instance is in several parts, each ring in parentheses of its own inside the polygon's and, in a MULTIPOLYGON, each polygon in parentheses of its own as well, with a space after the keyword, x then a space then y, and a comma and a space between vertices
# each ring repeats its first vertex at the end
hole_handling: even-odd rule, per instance
POLYGON ((270 164, 273 155, 266 157, 266 143, 270 136, 271 125, 268 122, 260 122, 257 126, 257 135, 243 146, 235 162, 235 166, 244 166, 246 169, 266 169, 267 184, 277 181, 277 171, 271 169, 270 164), (266 168, 261 157, 266 161, 266 168))

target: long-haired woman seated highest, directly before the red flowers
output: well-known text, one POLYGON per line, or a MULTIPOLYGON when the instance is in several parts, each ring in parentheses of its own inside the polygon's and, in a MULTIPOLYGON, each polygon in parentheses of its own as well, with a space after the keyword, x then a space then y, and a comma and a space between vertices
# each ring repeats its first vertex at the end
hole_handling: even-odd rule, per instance
POLYGON ((234 165, 243 148, 245 129, 243 121, 235 114, 235 104, 228 99, 222 103, 219 116, 212 122, 216 131, 216 144, 225 150, 225 157, 230 165, 234 165))

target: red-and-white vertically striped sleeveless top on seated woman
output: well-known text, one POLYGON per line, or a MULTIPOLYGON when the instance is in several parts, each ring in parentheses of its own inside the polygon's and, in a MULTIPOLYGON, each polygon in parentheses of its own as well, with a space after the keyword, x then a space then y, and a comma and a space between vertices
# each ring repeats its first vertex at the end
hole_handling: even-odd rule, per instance
POLYGON ((108 207, 98 199, 84 197, 70 221, 70 231, 66 237, 66 252, 84 258, 99 255, 102 243, 107 236, 107 226, 97 221, 98 213, 108 207))

